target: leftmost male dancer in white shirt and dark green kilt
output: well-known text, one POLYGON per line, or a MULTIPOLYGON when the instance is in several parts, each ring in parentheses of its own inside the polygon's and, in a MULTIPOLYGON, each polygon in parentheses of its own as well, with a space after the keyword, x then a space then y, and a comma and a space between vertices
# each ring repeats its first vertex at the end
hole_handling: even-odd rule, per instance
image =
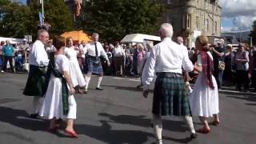
POLYGON ((42 97, 45 92, 45 74, 46 66, 49 64, 48 55, 45 50, 45 45, 49 40, 47 30, 38 30, 38 40, 36 40, 30 50, 29 64, 30 72, 26 81, 26 87, 23 94, 34 96, 34 109, 30 118, 37 118, 38 112, 42 106, 42 97))

